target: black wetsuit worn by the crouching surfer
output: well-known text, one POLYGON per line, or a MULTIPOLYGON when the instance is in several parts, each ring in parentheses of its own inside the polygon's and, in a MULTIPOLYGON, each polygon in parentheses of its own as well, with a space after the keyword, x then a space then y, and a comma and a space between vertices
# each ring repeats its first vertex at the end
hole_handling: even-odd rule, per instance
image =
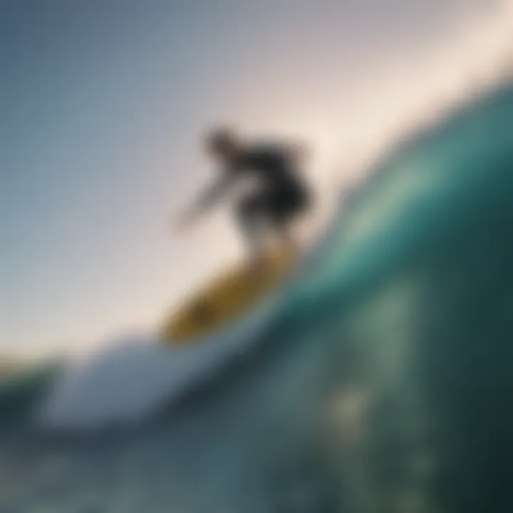
POLYGON ((309 207, 309 189, 296 171, 287 148, 280 145, 247 147, 222 171, 222 177, 200 197, 197 207, 209 208, 240 177, 254 176, 261 187, 237 205, 237 217, 244 233, 255 237, 255 222, 264 220, 284 229, 290 219, 309 207))

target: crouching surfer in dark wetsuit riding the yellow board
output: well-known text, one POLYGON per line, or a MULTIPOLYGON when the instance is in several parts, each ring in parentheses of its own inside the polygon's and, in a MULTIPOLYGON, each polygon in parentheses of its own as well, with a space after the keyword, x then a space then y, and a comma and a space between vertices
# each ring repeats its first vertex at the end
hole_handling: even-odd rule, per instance
POLYGON ((252 258, 264 258, 263 235, 271 230, 286 249, 296 252, 291 224, 311 207, 311 191, 299 175, 306 147, 299 144, 252 145, 229 128, 216 128, 206 149, 219 166, 219 176, 178 218, 180 229, 195 224, 242 177, 254 177, 256 190, 244 195, 235 209, 252 258))

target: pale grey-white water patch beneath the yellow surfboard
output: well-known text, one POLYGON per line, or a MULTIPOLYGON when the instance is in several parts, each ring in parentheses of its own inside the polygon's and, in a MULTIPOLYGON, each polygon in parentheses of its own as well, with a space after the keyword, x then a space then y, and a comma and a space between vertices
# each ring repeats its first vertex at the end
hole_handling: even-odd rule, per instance
POLYGON ((185 347, 166 347, 151 333, 126 336, 73 363, 37 412, 46 428, 98 430, 133 425, 180 398, 232 358, 248 351, 276 311, 277 297, 226 333, 185 347))

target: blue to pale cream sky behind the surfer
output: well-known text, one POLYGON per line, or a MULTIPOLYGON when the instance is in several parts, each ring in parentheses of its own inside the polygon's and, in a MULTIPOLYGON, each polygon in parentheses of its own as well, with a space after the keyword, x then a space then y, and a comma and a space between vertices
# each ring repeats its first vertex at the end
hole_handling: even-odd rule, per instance
POLYGON ((215 123, 314 147, 319 210, 401 133, 511 64, 509 1, 2 0, 0 355, 158 326, 240 256, 215 123), (509 36, 508 36, 509 34, 509 36))

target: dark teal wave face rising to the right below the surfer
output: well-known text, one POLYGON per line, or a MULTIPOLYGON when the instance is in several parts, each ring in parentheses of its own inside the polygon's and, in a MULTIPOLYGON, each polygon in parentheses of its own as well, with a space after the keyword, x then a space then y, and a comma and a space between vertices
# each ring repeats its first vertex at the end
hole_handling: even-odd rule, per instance
POLYGON ((256 343, 179 407, 4 436, 0 510, 509 511, 512 195, 507 85, 383 159, 256 343))

